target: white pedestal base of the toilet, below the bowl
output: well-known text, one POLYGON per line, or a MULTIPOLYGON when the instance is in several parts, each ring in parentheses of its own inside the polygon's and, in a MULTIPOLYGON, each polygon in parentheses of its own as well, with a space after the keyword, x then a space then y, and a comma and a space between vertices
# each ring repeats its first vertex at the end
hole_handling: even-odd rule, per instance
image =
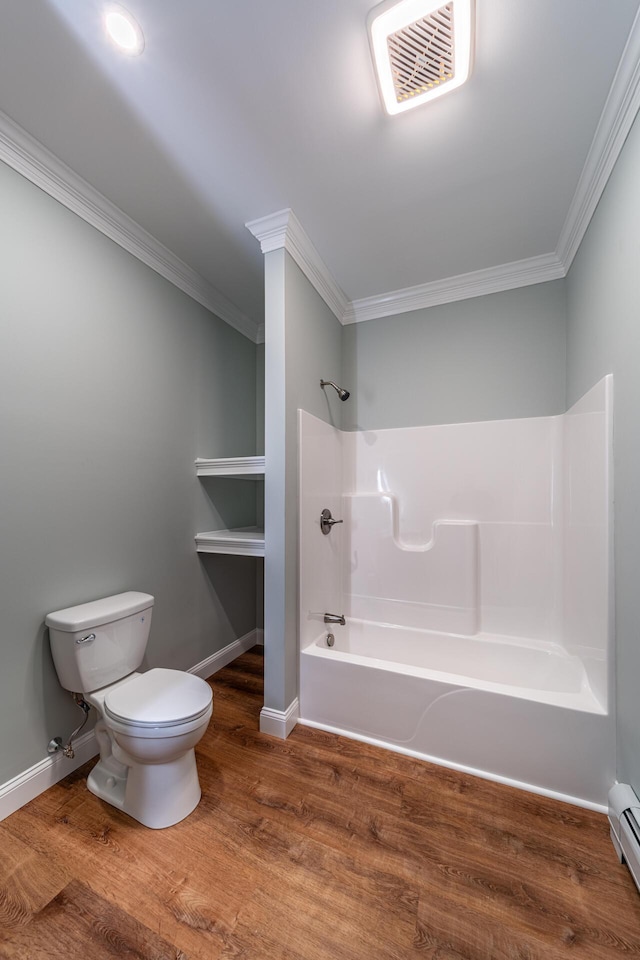
POLYGON ((193 749, 169 763, 134 763, 125 770, 122 775, 122 765, 110 757, 99 760, 87 777, 87 787, 145 827, 171 827, 188 817, 200 802, 193 749))

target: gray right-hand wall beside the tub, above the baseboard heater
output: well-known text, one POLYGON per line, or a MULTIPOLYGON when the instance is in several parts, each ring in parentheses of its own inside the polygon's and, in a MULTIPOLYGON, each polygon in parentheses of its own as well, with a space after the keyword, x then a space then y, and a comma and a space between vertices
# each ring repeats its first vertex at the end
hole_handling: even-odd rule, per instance
POLYGON ((568 399, 614 374, 618 779, 640 794, 640 120, 567 278, 568 399))

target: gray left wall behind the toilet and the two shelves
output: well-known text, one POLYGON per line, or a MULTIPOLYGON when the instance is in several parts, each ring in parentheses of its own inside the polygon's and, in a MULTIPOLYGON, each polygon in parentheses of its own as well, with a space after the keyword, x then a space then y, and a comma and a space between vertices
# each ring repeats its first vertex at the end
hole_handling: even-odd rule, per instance
POLYGON ((78 722, 48 611, 152 593, 149 666, 255 626, 255 561, 193 543, 252 523, 255 487, 202 483, 193 461, 254 452, 256 367, 252 343, 4 165, 0 196, 2 783, 78 722))

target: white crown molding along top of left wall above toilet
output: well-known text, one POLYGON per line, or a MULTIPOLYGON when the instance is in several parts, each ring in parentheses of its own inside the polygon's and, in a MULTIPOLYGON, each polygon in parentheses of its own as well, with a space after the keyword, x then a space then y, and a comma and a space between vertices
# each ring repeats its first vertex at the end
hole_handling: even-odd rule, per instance
POLYGON ((197 300, 234 330, 257 342, 259 328, 253 320, 2 112, 0 160, 183 293, 197 300))

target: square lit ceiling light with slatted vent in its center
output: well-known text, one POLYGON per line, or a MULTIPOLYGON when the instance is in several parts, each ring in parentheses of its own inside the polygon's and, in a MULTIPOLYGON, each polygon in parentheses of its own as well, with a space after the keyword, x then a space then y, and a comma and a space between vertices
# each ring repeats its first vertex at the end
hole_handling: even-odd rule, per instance
POLYGON ((387 113, 440 97, 469 78, 474 0, 388 0, 368 17, 369 38, 387 113))

